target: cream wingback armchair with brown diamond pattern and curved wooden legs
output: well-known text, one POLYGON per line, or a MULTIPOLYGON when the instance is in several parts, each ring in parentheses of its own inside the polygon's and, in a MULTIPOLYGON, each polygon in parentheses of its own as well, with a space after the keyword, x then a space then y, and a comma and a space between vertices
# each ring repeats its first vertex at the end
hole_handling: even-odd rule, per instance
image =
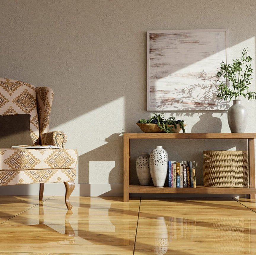
POLYGON ((65 203, 70 210, 69 196, 75 187, 77 151, 64 149, 67 138, 63 132, 49 132, 52 100, 53 91, 49 87, 35 88, 25 82, 0 79, 0 115, 30 114, 28 132, 33 144, 60 147, 3 148, 0 140, 0 185, 39 183, 41 200, 44 183, 63 182, 66 188, 65 203))

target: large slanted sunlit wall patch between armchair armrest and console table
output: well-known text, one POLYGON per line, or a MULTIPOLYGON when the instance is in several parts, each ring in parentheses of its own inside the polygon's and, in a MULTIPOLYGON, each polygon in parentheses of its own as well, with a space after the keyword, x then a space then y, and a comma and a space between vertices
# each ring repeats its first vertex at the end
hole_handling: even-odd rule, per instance
POLYGON ((121 97, 85 114, 81 113, 81 116, 55 126, 54 130, 65 132, 68 136, 65 147, 77 148, 81 155, 108 143, 111 135, 123 132, 124 121, 124 97, 121 97))

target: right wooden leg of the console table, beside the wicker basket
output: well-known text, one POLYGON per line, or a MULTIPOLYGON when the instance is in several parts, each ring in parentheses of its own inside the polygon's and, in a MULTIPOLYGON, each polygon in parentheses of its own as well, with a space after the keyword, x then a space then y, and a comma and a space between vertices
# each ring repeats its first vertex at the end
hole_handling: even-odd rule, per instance
MULTIPOLYGON (((255 151, 254 139, 248 139, 248 163, 250 187, 255 188, 255 151)), ((250 194, 250 199, 255 199, 255 194, 250 194)))

